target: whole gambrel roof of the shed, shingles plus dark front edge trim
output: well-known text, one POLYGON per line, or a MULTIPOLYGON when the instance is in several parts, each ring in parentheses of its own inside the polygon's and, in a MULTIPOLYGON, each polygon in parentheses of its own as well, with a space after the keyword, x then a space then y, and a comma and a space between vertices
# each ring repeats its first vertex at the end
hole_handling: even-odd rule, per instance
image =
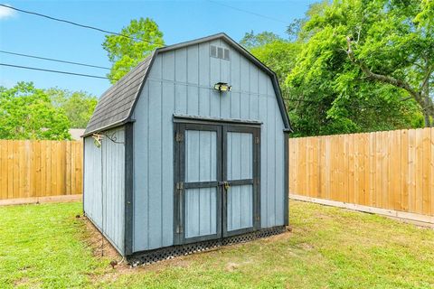
POLYGON ((278 78, 276 77, 276 74, 272 70, 269 70, 269 68, 257 58, 251 55, 249 51, 246 51, 244 48, 242 48, 240 44, 233 41, 228 35, 225 33, 218 33, 190 42, 182 42, 175 45, 157 48, 155 51, 153 51, 151 55, 149 55, 144 61, 140 62, 135 69, 129 71, 127 75, 125 75, 122 79, 119 79, 115 85, 104 92, 99 99, 97 107, 95 107, 92 117, 90 117, 90 122, 86 127, 84 136, 91 135, 99 131, 104 131, 112 127, 121 126, 132 120, 131 116, 133 114, 134 107, 136 106, 137 99, 140 96, 140 92, 146 82, 146 78, 152 63, 156 59, 158 53, 174 51, 189 45, 210 42, 216 39, 222 39, 223 41, 230 44, 232 48, 239 51, 241 55, 256 64, 260 70, 265 71, 271 77, 273 88, 278 98, 278 107, 283 118, 283 123, 285 128, 291 131, 287 109, 281 95, 280 87, 278 86, 278 78))

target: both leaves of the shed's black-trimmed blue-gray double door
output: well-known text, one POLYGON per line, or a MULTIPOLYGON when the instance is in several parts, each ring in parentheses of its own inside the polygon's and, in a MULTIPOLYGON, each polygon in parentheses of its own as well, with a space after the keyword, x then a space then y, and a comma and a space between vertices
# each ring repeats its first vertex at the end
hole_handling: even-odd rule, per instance
POLYGON ((175 244, 260 227, 260 127, 175 124, 175 244))

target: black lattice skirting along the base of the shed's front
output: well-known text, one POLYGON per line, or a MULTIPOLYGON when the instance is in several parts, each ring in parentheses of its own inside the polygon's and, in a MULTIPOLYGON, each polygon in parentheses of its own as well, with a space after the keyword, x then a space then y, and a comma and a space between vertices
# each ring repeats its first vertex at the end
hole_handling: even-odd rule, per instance
POLYGON ((134 253, 131 256, 127 256, 127 261, 132 266, 147 265, 155 263, 157 261, 171 259, 175 256, 189 255, 196 252, 210 250, 215 247, 222 247, 224 245, 248 242, 257 238, 266 238, 269 236, 281 234, 285 231, 285 227, 263 228, 255 232, 228 238, 220 238, 172 247, 162 247, 155 250, 134 253))

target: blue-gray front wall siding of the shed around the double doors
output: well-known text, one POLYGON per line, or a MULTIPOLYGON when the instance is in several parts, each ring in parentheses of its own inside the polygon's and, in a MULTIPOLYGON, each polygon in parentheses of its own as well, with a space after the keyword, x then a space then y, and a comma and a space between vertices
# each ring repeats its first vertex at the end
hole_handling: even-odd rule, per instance
POLYGON ((261 227, 284 223, 284 124, 269 75, 222 40, 231 61, 212 58, 210 42, 157 55, 137 102, 134 124, 134 244, 173 245, 173 114, 258 120, 261 126, 261 227), (219 81, 232 86, 222 95, 219 81))

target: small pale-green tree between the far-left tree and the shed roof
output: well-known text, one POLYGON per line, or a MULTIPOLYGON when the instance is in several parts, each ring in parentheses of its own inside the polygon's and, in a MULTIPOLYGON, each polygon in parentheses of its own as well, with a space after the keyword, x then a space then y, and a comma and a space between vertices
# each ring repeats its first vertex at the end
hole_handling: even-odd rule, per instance
POLYGON ((98 103, 98 98, 84 91, 48 89, 54 107, 60 107, 68 117, 71 128, 85 128, 98 103))

